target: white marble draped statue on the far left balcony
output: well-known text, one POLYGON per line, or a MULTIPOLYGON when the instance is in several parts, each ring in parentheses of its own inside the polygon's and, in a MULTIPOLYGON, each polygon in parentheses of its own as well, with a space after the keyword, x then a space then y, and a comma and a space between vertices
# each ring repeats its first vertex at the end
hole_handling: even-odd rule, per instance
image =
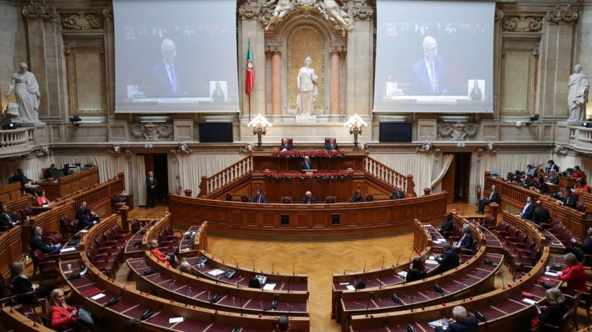
POLYGON ((27 70, 27 63, 20 63, 18 73, 13 73, 11 85, 6 92, 8 98, 14 90, 18 104, 18 119, 23 123, 39 123, 41 93, 35 75, 27 70))

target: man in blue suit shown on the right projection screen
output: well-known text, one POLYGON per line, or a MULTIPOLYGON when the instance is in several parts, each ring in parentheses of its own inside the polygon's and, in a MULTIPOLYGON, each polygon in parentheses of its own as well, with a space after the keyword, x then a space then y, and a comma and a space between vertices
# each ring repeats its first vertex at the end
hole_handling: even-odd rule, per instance
POLYGON ((424 57, 413 66, 414 81, 411 93, 414 95, 448 93, 444 59, 438 56, 436 39, 426 36, 423 47, 424 57))

